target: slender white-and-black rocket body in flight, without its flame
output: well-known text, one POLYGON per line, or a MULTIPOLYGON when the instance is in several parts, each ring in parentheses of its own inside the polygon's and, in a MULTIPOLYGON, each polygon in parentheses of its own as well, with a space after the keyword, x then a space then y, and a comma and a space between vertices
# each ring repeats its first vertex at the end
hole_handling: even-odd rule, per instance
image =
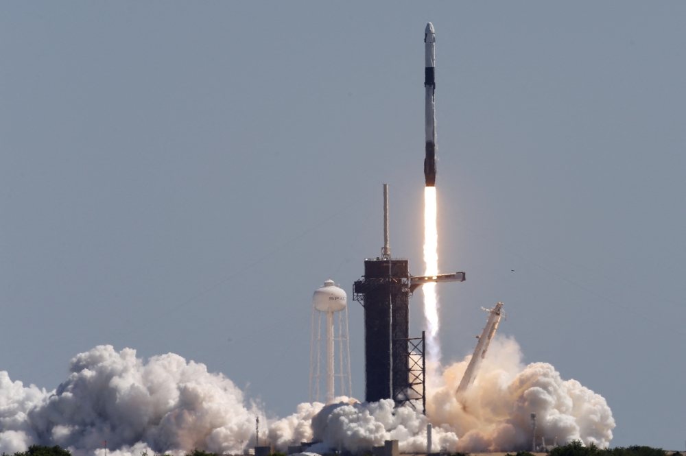
POLYGON ((424 89, 426 157, 424 158, 424 180, 427 187, 436 186, 436 32, 430 22, 424 31, 424 89))

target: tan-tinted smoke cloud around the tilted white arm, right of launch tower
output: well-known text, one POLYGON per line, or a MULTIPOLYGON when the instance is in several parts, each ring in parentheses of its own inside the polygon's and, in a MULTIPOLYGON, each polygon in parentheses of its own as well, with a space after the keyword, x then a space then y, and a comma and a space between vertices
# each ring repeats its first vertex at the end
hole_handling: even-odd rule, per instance
POLYGON ((456 389, 470 357, 443 370, 442 385, 429 389, 427 413, 460 437, 458 451, 531 448, 530 414, 536 413, 537 444, 581 440, 608 446, 615 420, 605 399, 576 380, 563 380, 548 363, 523 365, 512 338, 495 337, 473 385, 456 389))

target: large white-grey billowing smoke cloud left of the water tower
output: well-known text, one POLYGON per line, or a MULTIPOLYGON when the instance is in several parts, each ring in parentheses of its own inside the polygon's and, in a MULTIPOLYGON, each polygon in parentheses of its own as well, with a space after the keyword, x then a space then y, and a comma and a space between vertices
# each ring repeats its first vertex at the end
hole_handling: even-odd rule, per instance
POLYGON ((73 358, 69 370, 53 392, 0 372, 0 451, 58 444, 92 455, 106 441, 121 455, 237 453, 241 440, 255 440, 255 416, 267 422, 232 381, 171 353, 144 363, 135 350, 98 346, 73 358))

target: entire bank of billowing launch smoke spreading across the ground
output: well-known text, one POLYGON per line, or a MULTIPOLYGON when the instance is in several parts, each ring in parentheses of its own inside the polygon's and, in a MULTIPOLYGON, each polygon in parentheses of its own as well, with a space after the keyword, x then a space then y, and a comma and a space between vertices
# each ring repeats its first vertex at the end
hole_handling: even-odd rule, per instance
MULTIPOLYGON (((427 414, 434 425, 433 451, 514 451, 530 448, 530 413, 536 435, 550 444, 580 439, 606 446, 615 422, 604 398, 577 381, 563 381, 546 363, 521 363, 514 339, 496 337, 472 387, 455 395, 464 361, 442 369, 429 389, 427 414)), ((0 452, 25 451, 31 444, 69 448, 75 456, 140 456, 143 451, 180 455, 193 448, 239 453, 260 440, 284 451, 319 440, 327 448, 368 451, 399 440, 401 451, 426 448, 427 417, 391 400, 359 403, 303 403, 296 413, 268 419, 258 405, 222 374, 174 354, 150 358, 98 346, 71 360, 70 374, 56 390, 24 387, 0 372, 0 452), (242 442, 242 444, 241 444, 242 442)), ((540 444, 540 441, 539 441, 540 444)))

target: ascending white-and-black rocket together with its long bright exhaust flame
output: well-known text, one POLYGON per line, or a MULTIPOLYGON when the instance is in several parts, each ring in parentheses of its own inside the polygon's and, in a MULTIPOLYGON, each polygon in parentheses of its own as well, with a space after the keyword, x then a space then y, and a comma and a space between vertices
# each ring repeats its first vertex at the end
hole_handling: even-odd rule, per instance
MULTIPOLYGON (((426 129, 426 158, 424 159, 424 262, 425 275, 438 274, 438 231, 436 230, 436 115, 434 110, 434 64, 436 59, 436 35, 434 25, 427 24, 424 34, 425 43, 425 129, 426 129)), ((430 365, 436 365, 440 359, 438 345, 438 298, 436 283, 422 286, 424 294, 424 315, 427 322, 427 345, 430 365)))

